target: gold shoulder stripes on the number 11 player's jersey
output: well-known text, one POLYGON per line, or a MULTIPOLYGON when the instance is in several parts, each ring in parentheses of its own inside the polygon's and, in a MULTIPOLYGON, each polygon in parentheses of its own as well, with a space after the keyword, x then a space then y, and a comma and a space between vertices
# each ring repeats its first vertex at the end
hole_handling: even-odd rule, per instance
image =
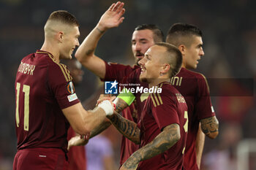
POLYGON ((53 58, 53 55, 51 55, 50 53, 47 53, 47 52, 37 52, 37 53, 42 54, 42 55, 47 55, 48 56, 48 60, 52 61, 52 62, 50 62, 50 64, 52 64, 52 66, 56 67, 57 69, 59 69, 61 71, 61 73, 64 75, 65 80, 67 82, 72 81, 72 77, 71 77, 71 75, 69 73, 69 70, 67 69, 66 65, 64 65, 63 63, 57 62, 53 58))

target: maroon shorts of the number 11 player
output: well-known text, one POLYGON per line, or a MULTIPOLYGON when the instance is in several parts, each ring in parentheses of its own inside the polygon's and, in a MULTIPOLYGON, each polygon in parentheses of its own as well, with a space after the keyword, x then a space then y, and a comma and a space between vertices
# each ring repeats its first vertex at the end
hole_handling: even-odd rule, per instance
POLYGON ((29 148, 18 150, 13 170, 67 170, 65 152, 54 148, 29 148))

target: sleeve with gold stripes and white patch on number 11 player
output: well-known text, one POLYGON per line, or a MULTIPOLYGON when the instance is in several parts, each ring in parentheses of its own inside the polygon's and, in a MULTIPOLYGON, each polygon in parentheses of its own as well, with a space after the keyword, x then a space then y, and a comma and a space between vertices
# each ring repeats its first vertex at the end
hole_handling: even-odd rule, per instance
POLYGON ((80 102, 75 93, 72 77, 64 64, 54 63, 49 66, 48 84, 61 109, 80 102))

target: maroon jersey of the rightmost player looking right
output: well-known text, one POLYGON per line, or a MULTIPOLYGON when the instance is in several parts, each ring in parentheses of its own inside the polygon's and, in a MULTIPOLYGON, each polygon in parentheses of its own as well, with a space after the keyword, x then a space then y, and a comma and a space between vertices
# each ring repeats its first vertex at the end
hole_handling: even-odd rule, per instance
POLYGON ((170 83, 184 96, 188 107, 189 132, 184 155, 184 167, 185 169, 198 169, 195 141, 199 120, 215 116, 206 78, 202 74, 181 68, 181 72, 173 77, 170 83))

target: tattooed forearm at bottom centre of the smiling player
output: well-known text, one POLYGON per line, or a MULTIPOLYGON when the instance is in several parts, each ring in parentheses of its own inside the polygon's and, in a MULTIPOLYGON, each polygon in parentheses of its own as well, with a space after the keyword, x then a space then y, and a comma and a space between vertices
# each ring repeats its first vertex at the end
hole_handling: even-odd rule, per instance
POLYGON ((123 164, 121 169, 136 169, 140 161, 165 152, 165 150, 170 149, 170 147, 176 144, 179 139, 181 139, 179 125, 176 123, 167 125, 153 141, 134 152, 123 164))

